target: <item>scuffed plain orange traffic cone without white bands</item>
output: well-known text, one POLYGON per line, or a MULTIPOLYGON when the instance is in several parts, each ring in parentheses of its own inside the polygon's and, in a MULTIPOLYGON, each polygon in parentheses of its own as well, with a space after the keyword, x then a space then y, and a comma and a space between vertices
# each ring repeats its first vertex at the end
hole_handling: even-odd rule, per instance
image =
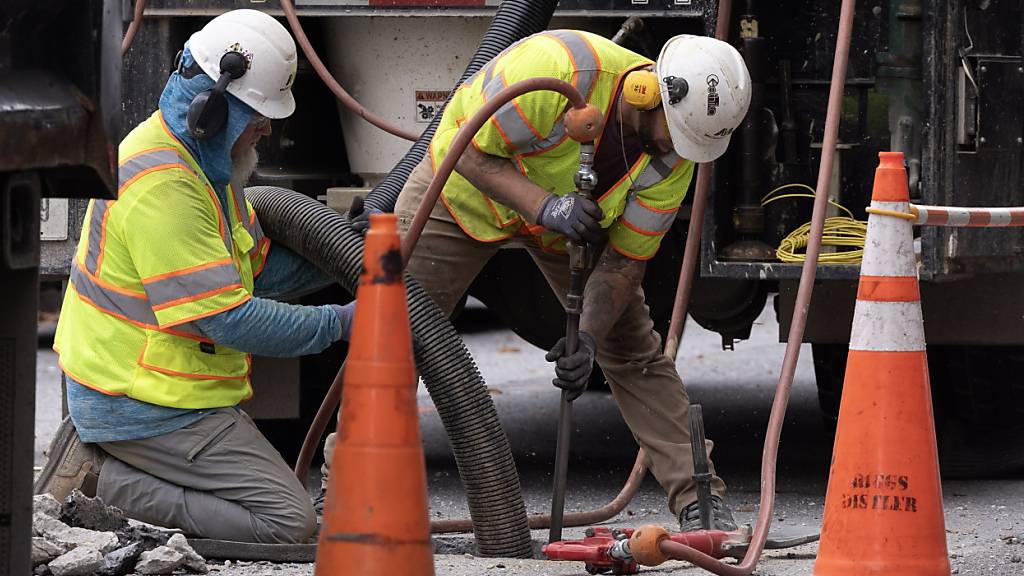
POLYGON ((394 214, 370 216, 316 576, 434 574, 394 214))

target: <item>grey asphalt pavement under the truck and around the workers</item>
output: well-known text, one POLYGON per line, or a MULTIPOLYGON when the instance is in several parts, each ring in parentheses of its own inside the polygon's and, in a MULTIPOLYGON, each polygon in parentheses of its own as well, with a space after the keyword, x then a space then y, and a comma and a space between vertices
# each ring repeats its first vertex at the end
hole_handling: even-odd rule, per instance
MULTIPOLYGON (((770 306, 769 306, 770 310, 770 306)), ((495 327, 479 308, 463 323, 464 337, 483 374, 509 437, 529 513, 550 511, 558 392, 550 384, 551 365, 544 352, 511 332, 495 327)), ((729 501, 741 523, 753 522, 760 506, 761 454, 784 344, 778 326, 766 312, 752 338, 732 352, 721 349, 715 333, 693 323, 687 327, 678 359, 691 401, 703 407, 705 426, 716 443, 712 454, 729 486, 729 501)), ((40 351, 37 395, 36 465, 59 418, 59 372, 51 352, 40 351)), ((420 423, 424 438, 431 519, 468 516, 458 469, 440 419, 420 387, 420 423)), ((632 467, 637 446, 610 394, 588 392, 574 407, 566 511, 593 509, 609 501, 632 467)), ((779 450, 773 532, 803 534, 820 529, 831 455, 831 436, 822 424, 814 386, 810 348, 804 346, 779 450)), ((953 574, 1024 575, 1024 479, 974 480, 943 484, 945 529, 953 574)), ((664 491, 648 476, 640 493, 609 527, 662 524, 675 519, 664 491)), ((865 534, 869 527, 865 527, 865 534)), ((566 539, 582 529, 566 529, 566 539)), ((860 535, 851 535, 860 537, 860 535)), ((535 531, 540 544, 547 531, 535 531)), ((484 559, 472 554, 472 539, 449 538, 450 550, 435 557, 438 575, 569 575, 586 574, 581 563, 543 560, 484 559)), ((817 544, 766 552, 760 575, 811 574, 817 544)), ((312 573, 311 565, 211 563, 218 574, 312 573)), ((650 574, 700 574, 672 562, 644 568, 650 574)))

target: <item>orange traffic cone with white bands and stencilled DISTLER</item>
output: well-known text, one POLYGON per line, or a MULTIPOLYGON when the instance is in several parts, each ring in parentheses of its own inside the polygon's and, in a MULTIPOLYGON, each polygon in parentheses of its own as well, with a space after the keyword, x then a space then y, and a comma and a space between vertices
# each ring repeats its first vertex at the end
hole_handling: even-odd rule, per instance
MULTIPOLYGON (((871 207, 909 211, 901 153, 871 207)), ((949 574, 911 223, 868 217, 815 576, 949 574)))

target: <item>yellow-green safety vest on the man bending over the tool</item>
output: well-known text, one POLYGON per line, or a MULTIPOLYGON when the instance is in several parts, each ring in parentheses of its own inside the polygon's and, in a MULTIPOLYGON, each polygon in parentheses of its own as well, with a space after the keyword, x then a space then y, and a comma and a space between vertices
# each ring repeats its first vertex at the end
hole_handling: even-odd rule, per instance
MULTIPOLYGON (((430 145, 436 167, 447 154, 459 127, 502 89, 520 80, 553 77, 575 86, 587 100, 609 118, 618 85, 626 74, 652 65, 651 60, 606 38, 586 32, 542 32, 513 44, 469 78, 444 110, 430 145)), ((512 159, 519 171, 545 190, 563 196, 575 191, 572 181, 580 164, 580 143, 568 138, 563 123, 568 100, 556 92, 535 91, 506 104, 473 138, 483 153, 512 159)), ((600 148, 601 140, 597 140, 600 148)), ((675 154, 648 154, 599 199, 608 229, 608 241, 618 252, 648 259, 672 227, 689 188, 693 163, 675 154)), ((598 178, 601 174, 597 175, 598 178)), ((540 245, 564 250, 565 238, 522 217, 453 173, 441 198, 462 230, 482 242, 515 234, 534 234, 540 245)))

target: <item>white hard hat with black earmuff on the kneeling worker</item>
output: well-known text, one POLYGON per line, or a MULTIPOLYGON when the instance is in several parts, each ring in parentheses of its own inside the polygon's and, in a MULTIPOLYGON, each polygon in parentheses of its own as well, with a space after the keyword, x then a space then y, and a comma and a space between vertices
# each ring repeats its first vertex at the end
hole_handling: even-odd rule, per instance
POLYGON ((241 52, 246 74, 227 85, 227 92, 267 118, 295 112, 295 41, 285 27, 259 10, 232 10, 207 24, 188 39, 188 49, 210 78, 220 77, 220 58, 241 52))

